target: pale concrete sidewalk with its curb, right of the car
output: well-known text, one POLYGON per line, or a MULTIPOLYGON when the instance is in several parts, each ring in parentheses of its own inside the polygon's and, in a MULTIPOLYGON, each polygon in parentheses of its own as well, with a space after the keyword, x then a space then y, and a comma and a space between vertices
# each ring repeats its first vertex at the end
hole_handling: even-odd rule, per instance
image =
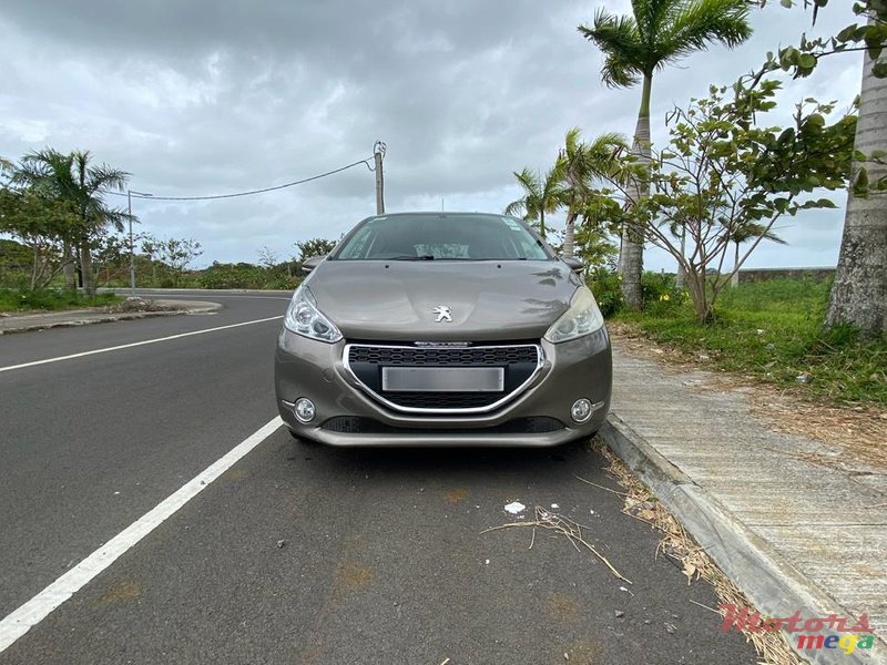
MULTIPOLYGON (((805 461, 836 451, 757 421, 750 389, 724 389, 723 375, 715 383, 711 374, 669 368, 618 342, 613 352, 613 406, 601 431, 608 444, 763 615, 837 614, 853 620, 849 627, 867 614, 871 649, 807 649, 812 663, 887 663, 884 470, 805 461)), ((795 647, 799 634, 787 634, 795 647)))

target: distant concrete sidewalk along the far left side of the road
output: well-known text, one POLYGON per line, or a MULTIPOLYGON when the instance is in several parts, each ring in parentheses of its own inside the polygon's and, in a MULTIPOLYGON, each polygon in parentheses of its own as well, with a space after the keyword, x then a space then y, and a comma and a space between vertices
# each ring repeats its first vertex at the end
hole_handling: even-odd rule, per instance
POLYGON ((156 316, 177 316, 182 314, 206 314, 222 308, 217 303, 202 300, 152 300, 162 311, 106 311, 102 307, 92 309, 67 309, 63 311, 42 311, 40 314, 8 314, 0 316, 0 335, 44 330, 90 324, 106 324, 128 319, 156 316))

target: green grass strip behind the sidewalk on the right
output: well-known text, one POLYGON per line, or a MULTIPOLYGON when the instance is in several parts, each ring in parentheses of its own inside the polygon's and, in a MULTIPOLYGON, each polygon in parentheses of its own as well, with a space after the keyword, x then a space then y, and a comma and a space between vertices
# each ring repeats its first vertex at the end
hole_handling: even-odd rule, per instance
POLYGON ((710 326, 689 303, 652 303, 614 320, 708 364, 795 387, 839 403, 887 406, 887 340, 859 341, 848 329, 823 331, 828 284, 771 280, 725 289, 710 326), (806 375, 808 382, 798 381, 806 375))

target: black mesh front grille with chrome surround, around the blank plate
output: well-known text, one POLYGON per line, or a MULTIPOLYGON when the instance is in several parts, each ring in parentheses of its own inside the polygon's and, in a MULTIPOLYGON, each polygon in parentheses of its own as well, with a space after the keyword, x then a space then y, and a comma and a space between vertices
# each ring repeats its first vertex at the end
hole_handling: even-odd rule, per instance
POLYGON ((349 344, 345 348, 347 367, 371 397, 395 410, 424 413, 491 411, 517 397, 529 385, 541 366, 541 359, 542 349, 536 344, 471 347, 349 344), (385 367, 501 367, 502 390, 383 390, 385 367))

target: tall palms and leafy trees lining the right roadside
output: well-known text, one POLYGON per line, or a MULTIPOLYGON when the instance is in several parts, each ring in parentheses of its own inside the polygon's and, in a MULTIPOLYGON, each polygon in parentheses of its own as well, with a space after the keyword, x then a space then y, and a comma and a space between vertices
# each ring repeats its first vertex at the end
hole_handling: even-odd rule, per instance
MULTIPOLYGON (((812 8, 815 21, 828 0, 797 3, 812 8)), ((819 328, 832 332, 817 335, 825 344, 859 337, 877 346, 887 331, 887 86, 878 82, 887 76, 887 6, 855 2, 856 23, 834 37, 796 35, 797 47, 762 53, 748 74, 714 82, 706 96, 679 102, 666 115, 669 139, 661 145, 650 139, 654 73, 694 51, 741 44, 751 34, 754 3, 638 0, 631 10, 620 17, 600 8, 590 24, 578 27, 603 55, 605 85, 642 86, 631 139, 582 140, 579 129, 569 130, 550 168, 514 172, 521 197, 506 212, 522 215, 543 236, 554 235, 552 215, 565 214, 563 254, 598 272, 616 255, 618 266, 610 269, 619 280, 598 277, 616 284, 620 303, 638 313, 648 303, 644 247, 667 252, 677 290, 686 294, 682 304, 689 299, 696 321, 714 328, 730 311, 717 303, 728 297, 730 276, 762 242, 784 244, 774 233, 777 221, 837 207, 833 197, 849 192, 834 288, 819 311, 819 328), (798 94, 788 98, 792 122, 776 124, 773 119, 786 115, 777 92, 784 86, 792 93, 784 74, 809 76, 822 58, 845 51, 863 52, 857 101, 836 113, 835 102, 801 101, 798 94)), ((786 37, 788 43, 795 40, 786 37)))

